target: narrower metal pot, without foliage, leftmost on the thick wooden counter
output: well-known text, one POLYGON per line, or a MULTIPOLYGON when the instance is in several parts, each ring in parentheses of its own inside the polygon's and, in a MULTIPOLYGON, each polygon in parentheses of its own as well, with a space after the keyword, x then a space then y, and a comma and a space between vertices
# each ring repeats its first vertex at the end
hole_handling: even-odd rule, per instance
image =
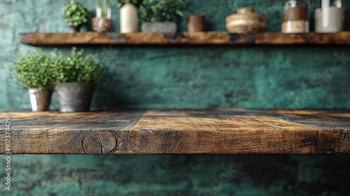
POLYGON ((51 103, 52 91, 43 90, 39 91, 36 88, 31 88, 28 90, 31 111, 48 111, 51 103))

